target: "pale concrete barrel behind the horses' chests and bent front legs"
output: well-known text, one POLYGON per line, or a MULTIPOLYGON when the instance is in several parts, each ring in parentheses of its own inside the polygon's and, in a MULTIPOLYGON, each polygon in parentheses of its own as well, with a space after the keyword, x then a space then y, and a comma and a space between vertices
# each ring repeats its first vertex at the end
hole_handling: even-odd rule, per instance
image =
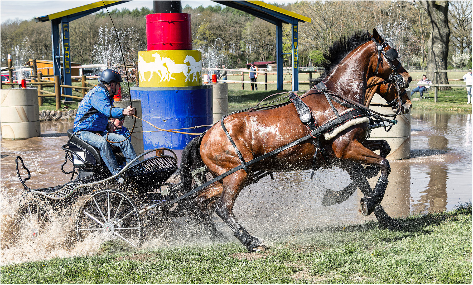
MULTIPOLYGON (((371 104, 386 104, 386 100, 375 94, 371 104)), ((370 106, 369 108, 381 113, 394 115, 391 107, 370 106)), ((385 140, 391 147, 388 160, 402 160, 411 157, 411 114, 396 116, 398 123, 389 132, 384 128, 371 131, 370 140, 385 140)))

